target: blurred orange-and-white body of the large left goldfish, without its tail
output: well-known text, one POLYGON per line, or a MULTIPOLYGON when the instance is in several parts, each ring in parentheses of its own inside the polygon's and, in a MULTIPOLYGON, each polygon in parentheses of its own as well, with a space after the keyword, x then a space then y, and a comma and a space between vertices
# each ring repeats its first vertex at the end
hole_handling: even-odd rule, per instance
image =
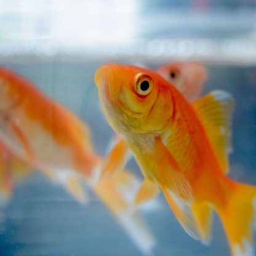
POLYGON ((0 136, 18 157, 50 176, 75 169, 92 177, 99 157, 80 119, 6 68, 0 69, 0 88, 0 136))

